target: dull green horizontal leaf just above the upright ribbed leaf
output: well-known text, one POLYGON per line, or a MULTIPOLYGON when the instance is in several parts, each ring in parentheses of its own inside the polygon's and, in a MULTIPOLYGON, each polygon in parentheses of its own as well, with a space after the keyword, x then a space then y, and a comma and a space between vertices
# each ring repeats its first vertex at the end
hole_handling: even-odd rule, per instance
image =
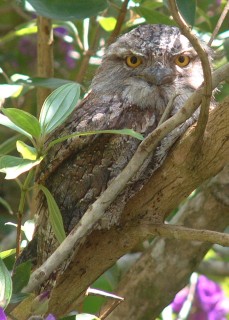
POLYGON ((18 79, 15 83, 30 86, 30 87, 43 87, 49 89, 56 89, 64 84, 74 83, 74 81, 59 79, 59 78, 27 78, 27 79, 18 79))

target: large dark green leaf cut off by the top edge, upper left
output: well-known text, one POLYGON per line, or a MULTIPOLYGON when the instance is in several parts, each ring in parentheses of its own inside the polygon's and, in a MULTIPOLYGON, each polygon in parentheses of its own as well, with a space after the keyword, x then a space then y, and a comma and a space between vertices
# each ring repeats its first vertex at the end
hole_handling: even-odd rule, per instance
POLYGON ((106 0, 27 0, 44 17, 61 20, 85 19, 96 16, 107 7, 106 0))

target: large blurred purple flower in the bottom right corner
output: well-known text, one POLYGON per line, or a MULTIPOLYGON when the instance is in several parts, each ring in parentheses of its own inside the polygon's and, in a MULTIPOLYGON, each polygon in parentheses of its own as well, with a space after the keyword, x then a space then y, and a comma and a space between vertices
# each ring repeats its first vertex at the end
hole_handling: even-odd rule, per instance
MULTIPOLYGON (((174 312, 180 312, 188 291, 186 287, 176 295, 172 303, 174 312)), ((226 320, 227 313, 229 299, 220 286, 205 276, 199 276, 188 320, 226 320)))

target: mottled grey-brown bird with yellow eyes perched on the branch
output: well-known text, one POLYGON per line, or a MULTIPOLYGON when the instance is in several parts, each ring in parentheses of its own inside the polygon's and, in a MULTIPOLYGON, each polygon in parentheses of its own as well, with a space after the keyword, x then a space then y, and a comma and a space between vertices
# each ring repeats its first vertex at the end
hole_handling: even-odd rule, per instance
MULTIPOLYGON (((211 49, 202 45, 211 62, 211 49)), ((49 140, 74 132, 124 128, 146 137, 158 126, 174 93, 177 97, 169 116, 182 108, 203 81, 200 58, 179 28, 140 25, 106 49, 89 94, 49 140)), ((129 184, 128 192, 123 191, 122 200, 107 209, 108 225, 118 223, 127 198, 162 165, 169 149, 197 117, 198 110, 159 143, 142 171, 129 184)), ((95 134, 68 139, 49 151, 37 181, 55 198, 66 234, 128 164, 139 144, 138 139, 128 135, 95 134)), ((37 197, 36 212, 35 250, 39 266, 57 248, 58 242, 41 193, 37 197)))

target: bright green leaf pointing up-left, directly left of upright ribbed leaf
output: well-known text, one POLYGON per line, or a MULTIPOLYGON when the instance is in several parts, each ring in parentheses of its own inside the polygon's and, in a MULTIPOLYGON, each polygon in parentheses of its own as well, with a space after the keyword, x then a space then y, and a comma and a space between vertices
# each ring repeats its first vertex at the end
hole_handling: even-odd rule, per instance
POLYGON ((40 137, 39 121, 32 114, 16 108, 2 109, 2 111, 16 126, 29 133, 32 137, 40 137))

